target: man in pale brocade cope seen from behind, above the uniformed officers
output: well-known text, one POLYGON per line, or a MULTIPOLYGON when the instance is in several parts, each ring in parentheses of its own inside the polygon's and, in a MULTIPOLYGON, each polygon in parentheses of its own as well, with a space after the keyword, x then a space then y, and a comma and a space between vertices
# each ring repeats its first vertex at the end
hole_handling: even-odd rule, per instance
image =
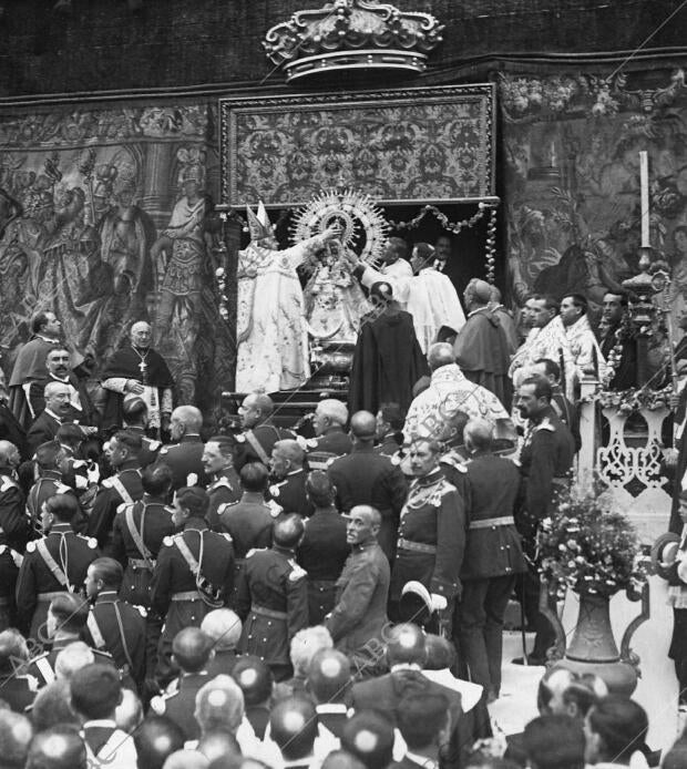
POLYGON ((503 403, 485 387, 465 377, 455 362, 451 345, 432 345, 427 360, 432 372, 430 386, 408 409, 403 427, 407 442, 418 438, 439 439, 445 423, 458 411, 470 418, 489 420, 495 425, 499 438, 514 438, 513 424, 503 403))

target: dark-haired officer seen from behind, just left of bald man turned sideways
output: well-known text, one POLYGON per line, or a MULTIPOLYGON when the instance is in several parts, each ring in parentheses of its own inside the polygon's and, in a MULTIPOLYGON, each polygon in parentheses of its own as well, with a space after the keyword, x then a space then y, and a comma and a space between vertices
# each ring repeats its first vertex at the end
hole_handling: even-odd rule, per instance
POLYGON ((308 573, 308 615, 310 625, 321 625, 334 608, 337 580, 341 575, 350 545, 346 519, 334 506, 336 489, 327 473, 315 470, 306 481, 306 494, 315 507, 298 546, 298 563, 308 573))

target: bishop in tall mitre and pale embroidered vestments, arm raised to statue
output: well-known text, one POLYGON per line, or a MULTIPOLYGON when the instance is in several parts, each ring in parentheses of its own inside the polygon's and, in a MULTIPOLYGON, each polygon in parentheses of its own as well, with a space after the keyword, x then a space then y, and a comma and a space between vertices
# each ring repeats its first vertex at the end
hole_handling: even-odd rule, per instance
POLYGON ((310 376, 303 289, 296 267, 338 229, 279 250, 267 211, 247 206, 250 243, 238 253, 236 390, 293 390, 310 376))

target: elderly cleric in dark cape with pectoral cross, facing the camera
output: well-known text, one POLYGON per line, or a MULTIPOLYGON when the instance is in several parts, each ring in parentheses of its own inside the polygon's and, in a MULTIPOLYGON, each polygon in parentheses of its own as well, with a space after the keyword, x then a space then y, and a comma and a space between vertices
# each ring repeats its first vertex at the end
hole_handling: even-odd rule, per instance
POLYGON ((151 348, 150 324, 140 320, 131 327, 131 346, 115 352, 104 365, 101 383, 107 391, 103 428, 122 427, 122 406, 127 396, 145 401, 148 428, 166 430, 174 408, 174 380, 164 358, 151 348))

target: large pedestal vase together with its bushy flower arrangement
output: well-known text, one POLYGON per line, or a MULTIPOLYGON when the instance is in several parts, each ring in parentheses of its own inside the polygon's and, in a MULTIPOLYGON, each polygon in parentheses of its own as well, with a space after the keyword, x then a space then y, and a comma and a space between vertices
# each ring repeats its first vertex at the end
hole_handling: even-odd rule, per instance
MULTIPOLYGON (((577 624, 558 665, 594 671, 611 689, 632 693, 638 659, 627 646, 632 633, 623 639, 625 654, 618 652, 609 602, 623 589, 632 601, 645 595, 648 562, 634 527, 598 481, 575 483, 558 496, 554 513, 542 523, 537 543, 540 573, 548 591, 563 598, 570 588, 580 596, 577 624)), ((633 623, 632 632, 638 624, 633 623)))

